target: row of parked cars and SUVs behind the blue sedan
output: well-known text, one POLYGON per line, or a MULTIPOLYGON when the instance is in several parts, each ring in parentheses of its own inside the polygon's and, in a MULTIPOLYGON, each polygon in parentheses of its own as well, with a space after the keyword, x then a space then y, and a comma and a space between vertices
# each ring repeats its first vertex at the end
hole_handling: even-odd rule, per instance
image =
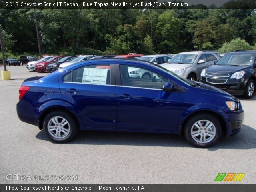
MULTIPOLYGON (((209 84, 233 95, 244 95, 252 98, 256 85, 256 51, 237 50, 221 56, 214 50, 182 52, 177 55, 157 54, 142 55, 76 55, 76 56, 44 56, 36 59, 33 56, 21 56, 20 61, 8 58, 8 65, 21 65, 27 62, 28 70, 53 72, 69 65, 92 59, 120 58, 138 59, 162 66, 174 74, 192 81, 209 84)), ((152 74, 144 70, 129 68, 129 73, 143 78, 152 78, 152 74)))

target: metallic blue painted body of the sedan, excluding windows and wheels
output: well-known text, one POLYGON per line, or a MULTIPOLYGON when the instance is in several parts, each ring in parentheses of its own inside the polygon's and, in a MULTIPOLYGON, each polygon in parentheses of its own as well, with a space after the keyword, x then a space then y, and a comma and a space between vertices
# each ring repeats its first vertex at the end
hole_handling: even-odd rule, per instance
POLYGON ((244 110, 231 111, 226 101, 237 99, 218 88, 181 81, 158 66, 140 60, 89 60, 68 66, 48 76, 25 80, 30 86, 17 104, 20 120, 39 125, 42 114, 51 108, 63 108, 77 118, 81 130, 163 132, 179 134, 184 121, 196 112, 218 114, 226 124, 226 136, 237 132, 234 122, 243 122, 244 110), (111 65, 111 84, 94 85, 63 82, 68 72, 91 64, 111 65), (121 85, 119 64, 142 67, 168 78, 177 88, 132 88, 121 85), (75 89, 70 92, 67 90, 75 89), (129 95, 129 96, 127 96, 129 95))

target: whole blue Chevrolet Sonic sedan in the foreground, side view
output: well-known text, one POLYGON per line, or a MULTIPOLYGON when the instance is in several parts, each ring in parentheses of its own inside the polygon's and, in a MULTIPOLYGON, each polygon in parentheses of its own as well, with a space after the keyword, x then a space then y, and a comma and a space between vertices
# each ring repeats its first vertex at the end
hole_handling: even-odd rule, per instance
POLYGON ((244 120, 234 96, 139 60, 80 62, 25 80, 19 93, 20 120, 59 143, 78 130, 108 130, 180 134, 208 147, 240 131, 244 120), (133 76, 134 68, 151 78, 133 76))

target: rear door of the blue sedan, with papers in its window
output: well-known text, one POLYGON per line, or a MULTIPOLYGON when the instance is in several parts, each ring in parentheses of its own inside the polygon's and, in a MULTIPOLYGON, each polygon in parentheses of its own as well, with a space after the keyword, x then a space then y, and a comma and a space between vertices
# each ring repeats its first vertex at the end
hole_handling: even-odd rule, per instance
POLYGON ((78 115, 82 129, 116 128, 113 67, 110 64, 83 66, 60 78, 64 103, 78 115))

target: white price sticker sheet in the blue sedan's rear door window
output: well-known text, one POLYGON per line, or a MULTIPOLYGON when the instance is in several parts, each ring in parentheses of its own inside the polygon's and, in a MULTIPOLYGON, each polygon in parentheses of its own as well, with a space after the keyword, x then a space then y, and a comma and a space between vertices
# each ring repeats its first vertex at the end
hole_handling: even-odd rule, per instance
POLYGON ((108 69, 84 68, 82 83, 106 84, 108 69))

